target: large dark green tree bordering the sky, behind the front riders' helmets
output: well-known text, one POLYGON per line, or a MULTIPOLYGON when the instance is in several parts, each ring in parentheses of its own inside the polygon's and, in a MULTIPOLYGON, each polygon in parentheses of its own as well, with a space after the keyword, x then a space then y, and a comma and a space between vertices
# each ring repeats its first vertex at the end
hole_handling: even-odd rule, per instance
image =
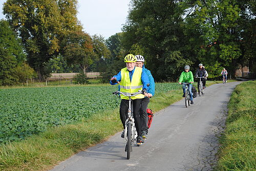
POLYGON ((133 0, 131 3, 123 27, 124 47, 130 52, 134 49, 144 52, 141 55, 145 57, 147 67, 157 80, 175 80, 181 66, 191 63, 186 54, 182 53, 186 42, 183 17, 187 5, 184 2, 133 0))

